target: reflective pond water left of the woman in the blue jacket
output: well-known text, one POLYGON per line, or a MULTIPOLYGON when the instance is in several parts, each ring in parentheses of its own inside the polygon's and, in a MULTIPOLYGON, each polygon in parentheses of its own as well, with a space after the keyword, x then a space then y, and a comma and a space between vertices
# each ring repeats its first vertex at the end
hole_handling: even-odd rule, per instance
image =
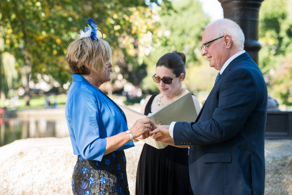
POLYGON ((69 136, 65 115, 6 117, 1 118, 0 123, 0 147, 24 138, 69 136))

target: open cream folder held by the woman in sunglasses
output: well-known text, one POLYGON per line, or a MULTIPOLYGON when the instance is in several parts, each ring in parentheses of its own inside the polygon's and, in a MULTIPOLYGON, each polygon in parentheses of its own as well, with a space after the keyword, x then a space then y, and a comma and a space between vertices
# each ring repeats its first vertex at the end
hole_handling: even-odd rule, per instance
MULTIPOLYGON (((154 124, 161 123, 161 125, 170 125, 171 122, 194 122, 197 118, 197 112, 192 98, 192 94, 189 92, 186 95, 175 100, 166 107, 160 109, 158 112, 150 114, 148 116, 136 112, 126 106, 119 105, 124 111, 128 128, 131 128, 138 119, 147 117, 152 120, 154 124)), ((165 148, 168 144, 157 142, 151 137, 141 140, 146 144, 149 144, 157 149, 165 148)))

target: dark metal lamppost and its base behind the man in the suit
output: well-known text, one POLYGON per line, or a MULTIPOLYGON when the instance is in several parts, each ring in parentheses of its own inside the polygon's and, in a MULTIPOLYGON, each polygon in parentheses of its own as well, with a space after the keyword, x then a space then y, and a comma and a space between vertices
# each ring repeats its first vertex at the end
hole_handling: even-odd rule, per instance
MULTIPOLYGON (((258 65, 259 11, 264 0, 218 0, 223 8, 224 18, 236 22, 242 29, 244 50, 258 65)), ((292 139, 292 112, 281 112, 278 102, 268 94, 268 113, 265 138, 292 139)))

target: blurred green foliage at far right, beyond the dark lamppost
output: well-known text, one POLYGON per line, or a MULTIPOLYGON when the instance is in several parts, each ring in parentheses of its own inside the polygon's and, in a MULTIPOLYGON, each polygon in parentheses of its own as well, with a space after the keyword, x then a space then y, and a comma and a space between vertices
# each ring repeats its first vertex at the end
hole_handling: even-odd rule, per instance
POLYGON ((268 92, 280 104, 292 105, 292 0, 265 0, 260 8, 262 49, 259 67, 268 92))

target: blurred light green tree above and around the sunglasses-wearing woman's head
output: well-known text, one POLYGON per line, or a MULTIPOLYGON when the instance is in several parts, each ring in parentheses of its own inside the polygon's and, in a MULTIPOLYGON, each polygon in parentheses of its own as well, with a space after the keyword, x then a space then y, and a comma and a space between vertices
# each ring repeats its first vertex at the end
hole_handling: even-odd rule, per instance
MULTIPOLYGON (((145 59, 147 66, 147 77, 143 80, 143 89, 158 93, 156 83, 152 81, 155 74, 156 62, 159 58, 177 50, 186 55, 186 77, 185 89, 190 91, 211 90, 212 82, 206 82, 209 77, 217 73, 208 66, 206 58, 201 56, 201 39, 204 26, 209 18, 203 13, 201 3, 197 0, 171 1, 172 10, 161 15, 161 37, 154 40, 150 55, 145 59), (198 74, 198 70, 207 67, 207 71, 198 74)), ((216 77, 216 76, 215 76, 216 77)))

